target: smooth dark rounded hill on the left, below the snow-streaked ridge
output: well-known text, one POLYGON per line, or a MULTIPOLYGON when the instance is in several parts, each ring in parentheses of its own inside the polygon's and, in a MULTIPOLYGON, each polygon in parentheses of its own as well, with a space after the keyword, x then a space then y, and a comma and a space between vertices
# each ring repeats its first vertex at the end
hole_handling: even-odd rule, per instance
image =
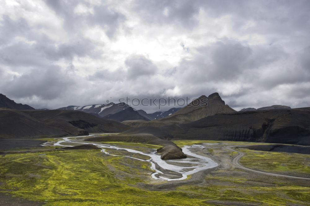
POLYGON ((76 136, 130 129, 117 121, 71 110, 0 109, 0 122, 0 138, 76 136))

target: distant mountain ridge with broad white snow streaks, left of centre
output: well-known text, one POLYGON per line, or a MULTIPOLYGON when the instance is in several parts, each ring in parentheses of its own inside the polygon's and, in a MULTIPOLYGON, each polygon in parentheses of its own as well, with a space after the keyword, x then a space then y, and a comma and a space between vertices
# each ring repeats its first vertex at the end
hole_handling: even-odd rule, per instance
POLYGON ((123 109, 127 109, 129 106, 125 103, 108 103, 108 104, 93 104, 87 106, 74 106, 70 105, 68 107, 61 107, 58 109, 61 110, 77 110, 86 113, 97 114, 100 117, 107 116, 109 114, 115 114, 117 112, 122 111, 123 109))

